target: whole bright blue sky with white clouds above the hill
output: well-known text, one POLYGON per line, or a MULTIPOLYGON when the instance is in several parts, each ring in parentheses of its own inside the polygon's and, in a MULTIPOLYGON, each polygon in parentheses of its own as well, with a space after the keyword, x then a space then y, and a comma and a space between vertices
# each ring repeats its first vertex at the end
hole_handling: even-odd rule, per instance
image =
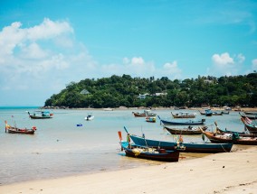
POLYGON ((257 70, 255 0, 1 0, 0 106, 44 106, 71 82, 257 70))

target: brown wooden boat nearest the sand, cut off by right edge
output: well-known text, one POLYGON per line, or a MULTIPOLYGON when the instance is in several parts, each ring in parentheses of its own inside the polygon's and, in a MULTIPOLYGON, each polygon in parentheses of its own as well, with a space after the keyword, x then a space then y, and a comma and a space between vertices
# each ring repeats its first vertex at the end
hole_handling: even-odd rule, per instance
POLYGON ((203 131, 203 134, 212 142, 212 143, 233 143, 233 144, 247 144, 247 145, 257 145, 257 137, 249 136, 240 136, 237 133, 213 133, 203 131))

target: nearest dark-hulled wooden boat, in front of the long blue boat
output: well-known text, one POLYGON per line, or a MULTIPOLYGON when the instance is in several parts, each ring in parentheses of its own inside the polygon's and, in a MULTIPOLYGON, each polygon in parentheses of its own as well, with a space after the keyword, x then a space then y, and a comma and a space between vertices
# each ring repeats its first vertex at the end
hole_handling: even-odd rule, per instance
POLYGON ((161 162, 178 162, 178 151, 167 151, 165 149, 155 149, 128 142, 120 142, 121 150, 124 150, 126 155, 134 158, 147 159, 161 162))

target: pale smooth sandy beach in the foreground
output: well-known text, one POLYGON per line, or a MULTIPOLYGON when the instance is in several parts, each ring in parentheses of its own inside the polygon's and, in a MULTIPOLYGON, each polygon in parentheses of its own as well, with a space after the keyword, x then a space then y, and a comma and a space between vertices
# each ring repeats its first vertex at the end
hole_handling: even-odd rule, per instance
POLYGON ((257 193, 257 147, 123 171, 36 180, 0 193, 257 193))

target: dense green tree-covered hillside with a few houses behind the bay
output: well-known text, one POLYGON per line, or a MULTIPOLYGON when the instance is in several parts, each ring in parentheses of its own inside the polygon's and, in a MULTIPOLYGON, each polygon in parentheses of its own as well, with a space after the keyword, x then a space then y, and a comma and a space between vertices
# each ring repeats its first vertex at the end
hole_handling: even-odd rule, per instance
POLYGON ((71 82, 44 106, 256 106, 257 73, 233 77, 170 80, 167 77, 84 79, 71 82), (139 94, 144 95, 139 98, 139 94))

